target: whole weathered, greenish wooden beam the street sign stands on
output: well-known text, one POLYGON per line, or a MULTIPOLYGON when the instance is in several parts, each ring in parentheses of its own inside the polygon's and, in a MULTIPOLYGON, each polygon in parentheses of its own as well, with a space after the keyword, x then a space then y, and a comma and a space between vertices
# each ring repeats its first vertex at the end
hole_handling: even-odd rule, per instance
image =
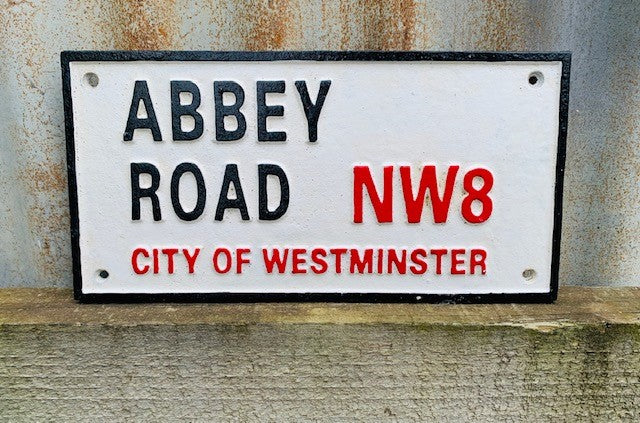
POLYGON ((0 290, 0 420, 640 418, 640 289, 552 305, 79 305, 0 290))

